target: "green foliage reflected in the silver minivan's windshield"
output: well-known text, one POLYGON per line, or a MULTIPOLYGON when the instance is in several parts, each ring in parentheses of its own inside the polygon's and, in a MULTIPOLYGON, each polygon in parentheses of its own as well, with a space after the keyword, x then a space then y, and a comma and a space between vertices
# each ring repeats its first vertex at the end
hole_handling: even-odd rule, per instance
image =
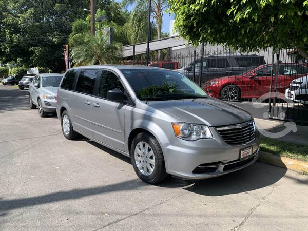
POLYGON ((138 93, 139 97, 142 99, 146 98, 156 98, 158 95, 166 95, 166 94, 174 94, 174 93, 181 93, 181 90, 177 89, 177 84, 172 83, 168 84, 163 82, 161 86, 152 85, 149 87, 144 87, 138 93))

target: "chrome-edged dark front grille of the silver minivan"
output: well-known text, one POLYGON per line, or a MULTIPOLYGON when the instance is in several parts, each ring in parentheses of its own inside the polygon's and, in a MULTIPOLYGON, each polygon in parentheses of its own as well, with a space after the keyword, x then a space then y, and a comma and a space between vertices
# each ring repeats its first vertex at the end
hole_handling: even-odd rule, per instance
POLYGON ((242 124, 216 127, 221 138, 230 145, 243 145, 253 141, 256 137, 256 128, 253 121, 242 124))

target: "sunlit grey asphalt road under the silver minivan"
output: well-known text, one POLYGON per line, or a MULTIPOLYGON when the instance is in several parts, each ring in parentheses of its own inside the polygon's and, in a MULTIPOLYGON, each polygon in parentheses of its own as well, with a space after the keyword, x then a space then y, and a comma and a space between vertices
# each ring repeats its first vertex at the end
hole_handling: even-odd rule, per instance
POLYGON ((257 162, 219 178, 149 185, 129 158, 66 140, 55 116, 20 110, 24 92, 0 87, 1 230, 307 229, 308 176, 257 162))

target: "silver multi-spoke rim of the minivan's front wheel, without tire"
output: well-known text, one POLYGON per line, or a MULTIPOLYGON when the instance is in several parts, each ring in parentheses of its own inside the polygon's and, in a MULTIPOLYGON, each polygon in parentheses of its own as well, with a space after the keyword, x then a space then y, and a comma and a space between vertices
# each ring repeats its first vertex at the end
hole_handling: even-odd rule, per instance
POLYGON ((155 156, 150 145, 144 141, 139 142, 134 149, 134 160, 139 171, 149 176, 155 169, 155 156))

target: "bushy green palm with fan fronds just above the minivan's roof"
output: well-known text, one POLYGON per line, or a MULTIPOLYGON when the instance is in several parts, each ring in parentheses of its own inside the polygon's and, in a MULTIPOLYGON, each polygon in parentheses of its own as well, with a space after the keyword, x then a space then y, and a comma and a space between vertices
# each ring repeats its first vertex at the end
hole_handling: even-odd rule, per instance
POLYGON ((118 64, 122 59, 121 44, 108 43, 108 36, 102 31, 94 35, 79 33, 69 38, 70 55, 75 66, 95 64, 118 64))

